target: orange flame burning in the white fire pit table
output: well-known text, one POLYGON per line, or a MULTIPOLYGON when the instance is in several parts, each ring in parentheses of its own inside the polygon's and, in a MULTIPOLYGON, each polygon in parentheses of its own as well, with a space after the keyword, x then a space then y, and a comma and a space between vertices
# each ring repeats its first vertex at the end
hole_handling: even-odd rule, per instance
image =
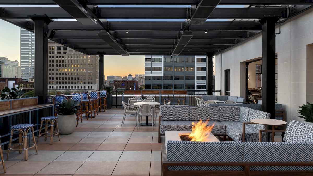
POLYGON ((200 119, 199 122, 192 122, 192 133, 189 135, 190 138, 192 138, 191 141, 205 141, 205 139, 210 135, 210 133, 204 133, 204 131, 211 132, 215 122, 212 126, 208 126, 209 120, 202 122, 200 119))

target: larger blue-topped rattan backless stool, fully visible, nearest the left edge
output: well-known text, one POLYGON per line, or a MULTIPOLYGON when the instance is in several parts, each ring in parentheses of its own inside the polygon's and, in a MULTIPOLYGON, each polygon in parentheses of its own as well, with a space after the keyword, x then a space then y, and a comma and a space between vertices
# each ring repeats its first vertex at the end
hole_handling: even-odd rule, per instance
MULTIPOLYGON (((30 137, 30 136, 29 136, 30 137)), ((9 154, 11 150, 18 150, 18 153, 22 153, 22 150, 24 151, 24 159, 28 159, 28 149, 35 147, 36 153, 38 154, 38 149, 37 149, 37 144, 35 140, 35 135, 34 135, 34 125, 30 123, 24 123, 24 124, 18 124, 18 125, 13 125, 11 127, 11 136, 10 136, 10 143, 9 143, 9 148, 8 148, 8 156, 7 160, 9 159, 9 154), (13 138, 13 132, 18 131, 18 144, 12 145, 12 138, 13 138), (34 143, 32 144, 33 146, 27 147, 27 136, 28 136, 28 131, 31 130, 29 133, 30 135, 33 135, 33 141, 34 143), (22 143, 22 138, 23 138, 23 143, 22 143), (13 149, 13 147, 18 146, 18 149, 13 149), (23 146, 23 148, 22 148, 23 146)))

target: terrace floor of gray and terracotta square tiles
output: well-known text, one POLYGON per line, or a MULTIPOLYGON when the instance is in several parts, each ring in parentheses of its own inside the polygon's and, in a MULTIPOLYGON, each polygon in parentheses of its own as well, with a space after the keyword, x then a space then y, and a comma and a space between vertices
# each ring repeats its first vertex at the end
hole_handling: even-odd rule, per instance
POLYGON ((29 150, 24 161, 23 153, 10 152, 7 173, 0 166, 0 175, 161 175, 164 138, 158 143, 158 126, 137 130, 134 116, 121 126, 123 114, 123 109, 112 108, 84 119, 72 134, 61 135, 61 141, 54 137, 53 145, 40 137, 38 155, 29 150))

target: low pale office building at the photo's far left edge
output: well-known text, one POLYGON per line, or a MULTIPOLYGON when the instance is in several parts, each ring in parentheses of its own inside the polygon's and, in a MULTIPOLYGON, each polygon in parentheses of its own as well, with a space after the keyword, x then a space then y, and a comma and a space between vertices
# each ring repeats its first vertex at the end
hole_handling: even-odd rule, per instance
POLYGON ((0 57, 0 78, 21 78, 21 67, 18 66, 18 61, 0 57))

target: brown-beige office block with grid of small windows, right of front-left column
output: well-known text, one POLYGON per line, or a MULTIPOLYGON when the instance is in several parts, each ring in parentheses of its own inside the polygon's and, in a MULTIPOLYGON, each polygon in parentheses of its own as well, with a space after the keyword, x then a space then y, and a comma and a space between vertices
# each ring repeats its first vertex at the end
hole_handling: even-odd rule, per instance
POLYGON ((49 83, 52 91, 98 90, 97 55, 85 55, 53 41, 48 41, 49 83))

